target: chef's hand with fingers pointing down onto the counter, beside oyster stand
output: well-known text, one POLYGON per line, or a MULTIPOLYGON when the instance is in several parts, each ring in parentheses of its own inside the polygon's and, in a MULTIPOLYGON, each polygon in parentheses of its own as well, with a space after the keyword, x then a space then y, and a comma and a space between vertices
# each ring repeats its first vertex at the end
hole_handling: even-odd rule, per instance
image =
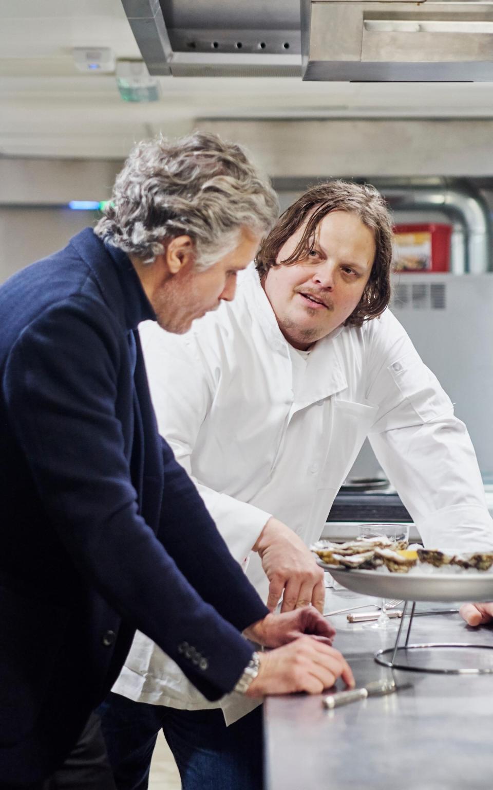
POLYGON ((325 601, 323 570, 311 551, 292 529, 271 517, 253 551, 258 551, 270 581, 267 606, 276 608, 284 591, 281 611, 312 604, 320 612, 325 601))

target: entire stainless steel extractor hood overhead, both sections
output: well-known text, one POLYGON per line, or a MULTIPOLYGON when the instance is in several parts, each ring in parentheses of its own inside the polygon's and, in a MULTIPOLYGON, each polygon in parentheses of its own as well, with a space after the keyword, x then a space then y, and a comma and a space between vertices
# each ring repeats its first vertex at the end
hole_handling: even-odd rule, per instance
POLYGON ((493 0, 121 0, 149 73, 493 81, 493 0))

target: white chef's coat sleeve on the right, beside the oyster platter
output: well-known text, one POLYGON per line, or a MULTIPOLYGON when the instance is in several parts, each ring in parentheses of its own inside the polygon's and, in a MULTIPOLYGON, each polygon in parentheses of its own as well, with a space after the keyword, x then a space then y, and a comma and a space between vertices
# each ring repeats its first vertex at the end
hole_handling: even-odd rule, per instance
POLYGON ((368 349, 369 435, 375 455, 413 517, 424 545, 493 547, 493 521, 469 433, 397 319, 378 319, 368 349))

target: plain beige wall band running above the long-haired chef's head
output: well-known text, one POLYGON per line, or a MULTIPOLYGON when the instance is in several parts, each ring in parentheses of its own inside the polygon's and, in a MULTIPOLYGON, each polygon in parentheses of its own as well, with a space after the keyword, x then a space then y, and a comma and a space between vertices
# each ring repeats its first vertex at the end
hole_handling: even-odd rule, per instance
POLYGON ((274 177, 493 175, 491 120, 200 120, 274 177))

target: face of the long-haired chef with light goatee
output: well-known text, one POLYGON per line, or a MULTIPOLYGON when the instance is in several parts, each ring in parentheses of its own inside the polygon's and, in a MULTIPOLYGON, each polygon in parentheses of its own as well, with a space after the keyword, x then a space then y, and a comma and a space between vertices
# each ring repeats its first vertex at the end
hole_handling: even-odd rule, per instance
POLYGON ((279 250, 263 278, 263 289, 286 340, 305 350, 353 312, 372 272, 373 232, 356 214, 332 211, 323 217, 312 249, 296 263, 282 265, 296 250, 305 225, 279 250))

